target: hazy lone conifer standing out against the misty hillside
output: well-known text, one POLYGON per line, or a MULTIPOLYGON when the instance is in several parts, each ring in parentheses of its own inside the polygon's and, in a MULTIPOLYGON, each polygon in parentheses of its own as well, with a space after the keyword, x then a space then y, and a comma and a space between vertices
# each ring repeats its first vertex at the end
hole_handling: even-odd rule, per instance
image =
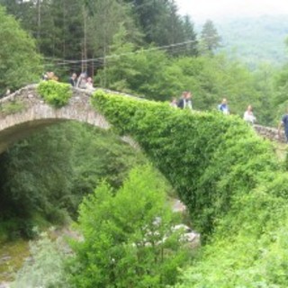
POLYGON ((220 36, 211 20, 207 20, 202 27, 200 43, 202 54, 213 55, 215 49, 220 47, 220 36))

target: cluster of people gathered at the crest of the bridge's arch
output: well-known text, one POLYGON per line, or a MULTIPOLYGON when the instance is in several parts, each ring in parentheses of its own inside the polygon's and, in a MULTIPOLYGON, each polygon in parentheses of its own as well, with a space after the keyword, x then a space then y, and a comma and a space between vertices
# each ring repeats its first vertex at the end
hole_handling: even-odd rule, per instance
MULTIPOLYGON (((54 74, 54 72, 46 72, 43 74, 42 80, 44 80, 44 81, 49 81, 49 80, 58 81, 58 76, 56 76, 54 74)), ((85 72, 81 73, 79 76, 77 76, 76 73, 73 73, 69 77, 68 82, 73 87, 88 89, 88 90, 94 89, 92 77, 88 77, 85 72)))

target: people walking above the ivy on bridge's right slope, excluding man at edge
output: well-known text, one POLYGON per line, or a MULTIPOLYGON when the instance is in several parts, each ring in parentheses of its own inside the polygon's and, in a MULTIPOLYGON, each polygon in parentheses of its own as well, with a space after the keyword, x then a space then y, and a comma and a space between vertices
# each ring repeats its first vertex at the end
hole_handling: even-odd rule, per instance
MULTIPOLYGON (((182 93, 179 101, 177 101, 177 99, 175 97, 172 98, 172 100, 170 102, 170 106, 175 107, 175 108, 180 108, 180 109, 192 110, 193 109, 192 97, 193 97, 193 94, 190 91, 184 91, 182 93)), ((218 105, 218 110, 225 115, 229 114, 229 106, 227 103, 227 98, 222 99, 222 102, 218 105)), ((246 112, 244 112, 243 119, 250 124, 255 123, 256 117, 254 116, 253 108, 251 105, 247 106, 247 110, 246 110, 246 112)), ((288 123, 288 116, 287 116, 287 123, 288 123)))

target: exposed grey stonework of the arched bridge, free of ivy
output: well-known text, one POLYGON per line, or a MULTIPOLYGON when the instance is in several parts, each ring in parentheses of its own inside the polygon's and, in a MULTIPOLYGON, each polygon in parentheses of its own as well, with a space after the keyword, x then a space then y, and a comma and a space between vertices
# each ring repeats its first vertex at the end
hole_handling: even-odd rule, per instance
MULTIPOLYGON (((72 88, 73 95, 69 103, 62 108, 54 108, 37 93, 37 85, 27 85, 7 97, 0 99, 0 154, 16 140, 29 136, 33 131, 61 121, 75 120, 108 129, 109 123, 103 115, 90 104, 91 92, 72 88)), ((113 92, 114 94, 115 92, 113 92)), ((256 125, 260 135, 269 139, 278 139, 277 130, 256 125)), ((132 139, 124 141, 136 146, 132 139)))

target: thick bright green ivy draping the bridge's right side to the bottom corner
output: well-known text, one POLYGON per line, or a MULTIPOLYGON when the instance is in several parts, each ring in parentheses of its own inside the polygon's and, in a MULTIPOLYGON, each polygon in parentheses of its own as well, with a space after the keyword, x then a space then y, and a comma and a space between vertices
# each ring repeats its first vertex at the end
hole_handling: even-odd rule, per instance
POLYGON ((94 94, 189 207, 206 245, 177 287, 285 287, 288 179, 270 143, 238 117, 94 94))

